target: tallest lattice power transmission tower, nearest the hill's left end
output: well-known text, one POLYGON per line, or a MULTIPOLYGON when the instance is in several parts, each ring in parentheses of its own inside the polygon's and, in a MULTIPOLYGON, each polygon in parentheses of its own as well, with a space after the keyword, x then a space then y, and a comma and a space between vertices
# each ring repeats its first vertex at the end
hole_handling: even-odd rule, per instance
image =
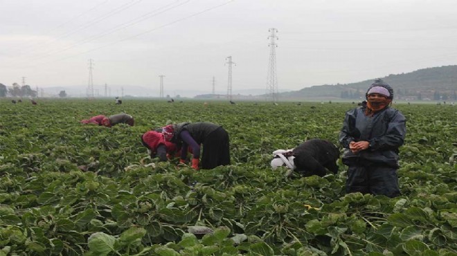
POLYGON ((278 101, 278 77, 276 76, 276 40, 278 37, 276 33, 278 30, 276 28, 270 28, 269 30, 270 43, 270 57, 268 62, 268 72, 267 72, 267 99, 269 98, 273 102, 278 101))

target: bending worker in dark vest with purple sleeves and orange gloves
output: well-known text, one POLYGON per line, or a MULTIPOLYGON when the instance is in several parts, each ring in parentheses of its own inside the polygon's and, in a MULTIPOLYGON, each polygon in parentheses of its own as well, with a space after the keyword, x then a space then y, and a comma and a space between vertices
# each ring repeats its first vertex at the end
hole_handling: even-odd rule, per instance
POLYGON ((181 147, 181 163, 186 163, 188 147, 192 149, 192 168, 199 170, 200 145, 201 169, 213 169, 230 164, 229 140, 227 131, 212 122, 181 122, 167 125, 162 130, 165 140, 181 147))

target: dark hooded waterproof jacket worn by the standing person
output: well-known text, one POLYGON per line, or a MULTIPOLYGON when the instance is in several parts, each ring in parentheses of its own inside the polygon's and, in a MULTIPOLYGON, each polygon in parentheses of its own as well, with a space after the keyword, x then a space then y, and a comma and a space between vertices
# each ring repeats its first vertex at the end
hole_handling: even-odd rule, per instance
MULTIPOLYGON (((389 98, 393 98, 393 89, 382 80, 377 80, 370 88, 373 86, 383 86, 391 93, 389 98)), ((397 168, 398 148, 403 145, 406 136, 406 118, 400 111, 390 107, 382 109, 372 117, 364 114, 365 109, 366 102, 362 102, 361 107, 346 112, 339 136, 339 142, 345 148, 343 163, 387 165, 397 168), (353 154, 349 149, 349 143, 361 140, 368 141, 370 146, 358 154, 353 154)))

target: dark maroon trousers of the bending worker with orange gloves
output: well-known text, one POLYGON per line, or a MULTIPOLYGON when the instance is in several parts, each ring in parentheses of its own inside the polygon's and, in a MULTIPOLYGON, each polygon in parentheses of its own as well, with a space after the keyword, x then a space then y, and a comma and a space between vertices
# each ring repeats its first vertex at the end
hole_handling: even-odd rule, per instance
POLYGON ((230 165, 228 133, 219 127, 211 132, 203 143, 201 169, 213 169, 219 165, 230 165))

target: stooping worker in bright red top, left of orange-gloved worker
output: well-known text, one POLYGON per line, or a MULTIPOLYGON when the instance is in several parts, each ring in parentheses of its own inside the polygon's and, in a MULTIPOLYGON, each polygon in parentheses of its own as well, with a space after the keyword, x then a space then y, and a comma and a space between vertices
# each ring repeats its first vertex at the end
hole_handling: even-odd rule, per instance
POLYGON ((158 157, 159 161, 167 161, 177 150, 176 145, 166 141, 158 131, 146 131, 141 136, 141 143, 147 147, 147 154, 151 158, 158 157))

